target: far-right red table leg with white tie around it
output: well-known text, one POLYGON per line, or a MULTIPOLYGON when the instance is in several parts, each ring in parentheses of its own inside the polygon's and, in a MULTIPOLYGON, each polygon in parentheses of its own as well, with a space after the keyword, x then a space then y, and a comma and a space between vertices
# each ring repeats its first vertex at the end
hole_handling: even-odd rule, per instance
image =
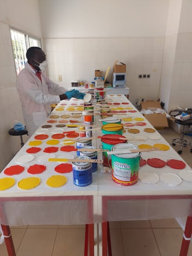
POLYGON ((183 237, 179 256, 187 256, 187 252, 189 249, 189 243, 190 243, 191 236, 192 236, 192 217, 187 217, 184 235, 186 238, 189 238, 189 240, 188 239, 186 240, 186 238, 183 237))

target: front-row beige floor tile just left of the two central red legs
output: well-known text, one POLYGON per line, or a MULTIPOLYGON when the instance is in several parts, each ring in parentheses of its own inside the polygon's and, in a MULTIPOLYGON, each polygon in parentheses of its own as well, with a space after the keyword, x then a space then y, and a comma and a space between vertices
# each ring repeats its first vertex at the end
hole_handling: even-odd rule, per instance
POLYGON ((52 256, 83 255, 84 238, 83 229, 58 229, 52 256))

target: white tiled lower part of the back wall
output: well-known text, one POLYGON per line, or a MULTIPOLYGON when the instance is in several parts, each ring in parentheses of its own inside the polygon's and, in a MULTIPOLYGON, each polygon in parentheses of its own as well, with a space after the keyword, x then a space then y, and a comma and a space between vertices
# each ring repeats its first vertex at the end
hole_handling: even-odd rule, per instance
POLYGON ((94 70, 105 73, 110 66, 108 80, 112 81, 113 64, 119 60, 127 64, 129 99, 138 97, 157 100, 163 60, 164 37, 151 38, 59 38, 43 40, 51 80, 69 88, 71 80, 93 81, 94 70), (150 78, 139 79, 139 74, 150 78), (58 75, 63 81, 58 82, 58 75))

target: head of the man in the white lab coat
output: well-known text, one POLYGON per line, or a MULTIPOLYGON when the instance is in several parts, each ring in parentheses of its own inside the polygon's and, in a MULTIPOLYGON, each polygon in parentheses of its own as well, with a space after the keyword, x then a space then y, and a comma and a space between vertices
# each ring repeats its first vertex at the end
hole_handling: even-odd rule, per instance
POLYGON ((40 70, 38 67, 40 63, 46 60, 45 52, 39 47, 30 47, 26 52, 27 61, 36 70, 40 70))

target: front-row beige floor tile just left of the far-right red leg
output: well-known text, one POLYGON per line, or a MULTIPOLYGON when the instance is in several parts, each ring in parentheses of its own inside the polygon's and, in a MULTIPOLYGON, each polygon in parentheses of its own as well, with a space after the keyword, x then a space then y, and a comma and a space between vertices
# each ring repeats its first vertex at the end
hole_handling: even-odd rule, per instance
MULTIPOLYGON (((183 237, 181 229, 154 229, 161 256, 179 256, 183 237)), ((192 245, 189 246, 188 256, 192 255, 192 245)))

